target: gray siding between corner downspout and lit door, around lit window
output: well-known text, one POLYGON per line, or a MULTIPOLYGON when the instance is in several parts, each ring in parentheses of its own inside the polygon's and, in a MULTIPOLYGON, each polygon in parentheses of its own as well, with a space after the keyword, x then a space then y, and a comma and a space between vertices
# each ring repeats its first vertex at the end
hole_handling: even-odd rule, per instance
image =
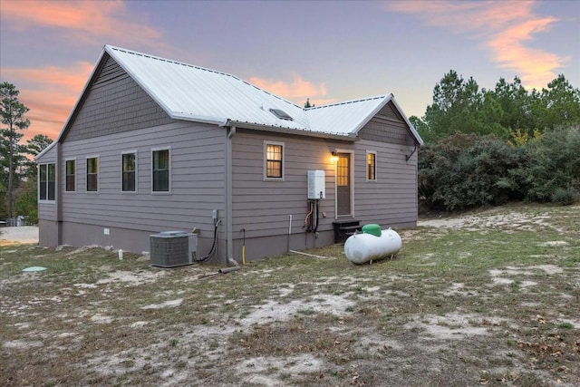
POLYGON ((331 230, 334 219, 334 167, 331 151, 336 141, 297 136, 275 136, 238 130, 233 138, 233 230, 234 238, 287 235, 290 215, 292 233, 304 234, 307 210, 307 171, 323 169, 326 198, 320 201, 319 231, 331 230), (264 141, 284 142, 284 181, 264 180, 264 141), (322 213, 326 214, 323 218, 322 213))

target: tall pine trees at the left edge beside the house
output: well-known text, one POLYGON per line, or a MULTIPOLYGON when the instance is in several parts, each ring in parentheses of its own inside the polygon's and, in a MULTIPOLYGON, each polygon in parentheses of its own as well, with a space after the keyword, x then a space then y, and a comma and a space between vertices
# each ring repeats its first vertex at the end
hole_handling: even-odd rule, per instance
POLYGON ((38 221, 37 173, 34 156, 53 142, 37 134, 22 143, 30 126, 25 117, 29 109, 18 100, 14 84, 0 83, 0 219, 24 216, 38 221))

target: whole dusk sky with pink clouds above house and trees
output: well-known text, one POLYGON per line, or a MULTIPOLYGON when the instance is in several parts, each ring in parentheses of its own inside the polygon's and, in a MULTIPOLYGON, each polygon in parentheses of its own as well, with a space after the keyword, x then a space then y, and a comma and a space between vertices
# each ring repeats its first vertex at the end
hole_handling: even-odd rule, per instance
POLYGON ((303 105, 392 92, 422 116, 453 69, 580 86, 580 1, 0 0, 0 82, 55 139, 105 44, 232 73, 303 105))

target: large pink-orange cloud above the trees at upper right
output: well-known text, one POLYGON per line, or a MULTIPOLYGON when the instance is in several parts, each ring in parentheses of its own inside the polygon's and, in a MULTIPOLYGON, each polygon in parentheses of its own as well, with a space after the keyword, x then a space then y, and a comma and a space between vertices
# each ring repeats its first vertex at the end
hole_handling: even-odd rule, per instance
POLYGON ((534 34, 546 32, 558 21, 536 15, 535 5, 534 1, 390 1, 383 7, 458 34, 471 34, 498 67, 515 71, 527 87, 541 88, 556 78, 567 58, 527 45, 534 34))

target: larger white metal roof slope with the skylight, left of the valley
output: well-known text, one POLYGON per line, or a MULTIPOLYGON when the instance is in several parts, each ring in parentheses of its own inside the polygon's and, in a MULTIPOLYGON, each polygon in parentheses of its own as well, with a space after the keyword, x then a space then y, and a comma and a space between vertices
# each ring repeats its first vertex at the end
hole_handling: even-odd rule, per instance
POLYGON ((304 109, 235 75, 111 46, 105 50, 172 118, 308 129, 304 109), (270 109, 294 120, 279 119, 270 109))

